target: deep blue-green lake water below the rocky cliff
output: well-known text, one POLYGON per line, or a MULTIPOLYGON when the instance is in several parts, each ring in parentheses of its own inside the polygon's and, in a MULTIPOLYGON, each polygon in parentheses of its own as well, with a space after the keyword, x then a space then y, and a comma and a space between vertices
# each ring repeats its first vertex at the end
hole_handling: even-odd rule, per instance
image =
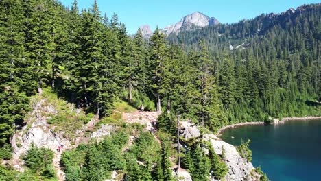
POLYGON ((232 145, 250 139, 252 164, 261 165, 270 180, 321 180, 321 120, 244 125, 220 138, 232 145))

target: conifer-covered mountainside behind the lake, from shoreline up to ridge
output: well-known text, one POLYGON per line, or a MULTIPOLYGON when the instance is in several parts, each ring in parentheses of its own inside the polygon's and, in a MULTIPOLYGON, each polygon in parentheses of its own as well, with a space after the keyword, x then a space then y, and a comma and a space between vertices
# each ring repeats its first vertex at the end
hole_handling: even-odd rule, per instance
POLYGON ((320 12, 302 5, 167 39, 187 52, 205 41, 230 122, 320 114, 320 12))

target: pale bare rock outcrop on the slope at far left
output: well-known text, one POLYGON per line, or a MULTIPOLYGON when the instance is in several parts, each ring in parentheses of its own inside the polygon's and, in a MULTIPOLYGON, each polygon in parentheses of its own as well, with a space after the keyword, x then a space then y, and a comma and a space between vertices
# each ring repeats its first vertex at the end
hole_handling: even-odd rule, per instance
POLYGON ((11 145, 13 148, 13 155, 11 165, 18 171, 23 171, 23 162, 19 157, 27 152, 31 144, 34 143, 37 147, 45 147, 54 152, 53 166, 56 169, 58 180, 64 180, 64 173, 60 168, 60 158, 62 151, 58 152, 58 146, 63 145, 63 149, 71 147, 69 141, 61 136, 63 132, 54 132, 50 128, 47 120, 50 118, 47 114, 57 114, 53 106, 46 104, 47 99, 41 99, 38 103, 34 104, 32 112, 29 113, 27 120, 28 126, 19 130, 12 136, 11 145), (47 105, 47 106, 46 106, 47 105))

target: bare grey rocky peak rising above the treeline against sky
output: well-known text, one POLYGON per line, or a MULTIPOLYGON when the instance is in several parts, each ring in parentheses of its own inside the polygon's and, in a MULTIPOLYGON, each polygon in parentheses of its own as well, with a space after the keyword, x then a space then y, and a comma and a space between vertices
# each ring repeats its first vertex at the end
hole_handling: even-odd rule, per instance
POLYGON ((165 27, 162 32, 165 34, 178 33, 181 31, 189 31, 194 27, 206 27, 217 24, 219 24, 217 19, 210 18, 201 12, 194 12, 182 18, 178 23, 165 27))

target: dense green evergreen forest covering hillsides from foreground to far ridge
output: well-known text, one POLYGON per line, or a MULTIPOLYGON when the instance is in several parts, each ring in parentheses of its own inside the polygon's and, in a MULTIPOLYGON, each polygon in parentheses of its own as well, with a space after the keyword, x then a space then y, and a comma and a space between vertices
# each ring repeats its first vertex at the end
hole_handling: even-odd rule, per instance
MULTIPOLYGON (((117 14, 102 16, 97 1, 88 10, 79 10, 77 1, 71 9, 54 0, 0 1, 1 159, 11 158, 10 138, 24 126, 30 98, 45 88, 99 119, 110 116, 119 100, 160 113, 159 143, 138 129, 134 147, 122 155, 132 131, 123 128, 64 154, 69 180, 102 180, 113 169, 126 169, 127 180, 171 180, 178 117, 215 132, 232 123, 320 115, 320 11, 320 4, 306 5, 168 38, 156 29, 147 41, 140 29, 128 36, 117 14)), ((213 150, 204 154, 206 144, 187 144, 191 152, 182 167, 194 180, 210 173, 223 178, 224 158, 213 150)), ((25 156, 29 169, 54 177, 46 160, 51 152, 33 147, 28 153, 38 159, 25 156)))

